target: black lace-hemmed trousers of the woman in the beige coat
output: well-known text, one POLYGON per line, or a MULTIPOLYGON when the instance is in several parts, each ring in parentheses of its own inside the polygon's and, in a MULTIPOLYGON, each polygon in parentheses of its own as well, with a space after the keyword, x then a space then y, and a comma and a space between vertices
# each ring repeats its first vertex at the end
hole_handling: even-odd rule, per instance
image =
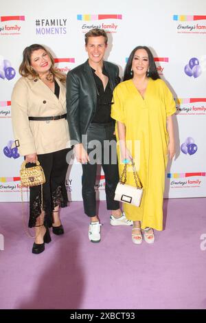
MULTIPOLYGON (((62 149, 54 153, 38 155, 44 172, 46 183, 43 184, 43 210, 45 211, 45 225, 52 226, 52 211, 57 205, 65 208, 67 206, 67 190, 65 177, 68 164, 67 153, 70 149, 62 149)), ((30 219, 29 227, 34 227, 36 218, 41 214, 41 186, 30 188, 30 219)))

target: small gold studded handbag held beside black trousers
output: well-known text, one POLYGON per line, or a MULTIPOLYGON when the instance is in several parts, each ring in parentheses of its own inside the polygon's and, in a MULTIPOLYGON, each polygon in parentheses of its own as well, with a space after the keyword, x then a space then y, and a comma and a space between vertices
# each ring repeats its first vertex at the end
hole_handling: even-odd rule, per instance
POLYGON ((21 164, 20 177, 21 186, 37 186, 45 183, 45 173, 38 160, 36 166, 26 168, 26 161, 21 164))

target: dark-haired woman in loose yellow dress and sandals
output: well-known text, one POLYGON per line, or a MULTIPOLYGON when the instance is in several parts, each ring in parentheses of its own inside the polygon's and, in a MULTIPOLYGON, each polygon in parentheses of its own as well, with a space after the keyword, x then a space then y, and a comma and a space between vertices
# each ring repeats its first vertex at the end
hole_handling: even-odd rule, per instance
MULTIPOLYGON (((163 230, 163 191, 165 168, 174 150, 172 114, 174 98, 161 80, 150 49, 138 46, 131 52, 124 72, 124 82, 113 93, 111 117, 116 122, 119 140, 119 173, 124 164, 135 161, 144 187, 141 205, 124 203, 128 220, 133 221, 132 240, 142 242, 141 229, 147 243, 154 243, 154 230, 163 230)), ((127 166, 127 181, 135 186, 133 169, 127 166)))

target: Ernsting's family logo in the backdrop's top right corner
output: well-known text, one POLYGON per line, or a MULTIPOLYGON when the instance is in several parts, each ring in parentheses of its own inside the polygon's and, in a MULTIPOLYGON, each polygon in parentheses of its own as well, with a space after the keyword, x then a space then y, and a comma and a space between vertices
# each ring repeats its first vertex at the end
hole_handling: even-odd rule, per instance
POLYGON ((206 34, 206 16, 174 14, 173 20, 179 34, 206 34))

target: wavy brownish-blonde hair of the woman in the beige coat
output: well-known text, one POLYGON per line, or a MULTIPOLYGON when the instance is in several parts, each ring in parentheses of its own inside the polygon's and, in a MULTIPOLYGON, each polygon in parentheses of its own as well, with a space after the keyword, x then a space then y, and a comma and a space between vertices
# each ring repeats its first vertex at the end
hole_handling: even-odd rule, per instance
POLYGON ((32 69, 31 67, 31 55, 35 50, 38 50, 38 49, 43 49, 51 59, 52 66, 50 67, 50 71, 52 72, 52 74, 54 74, 54 76, 58 78, 60 82, 66 82, 66 75, 62 74, 60 71, 57 71, 54 68, 54 58, 52 54, 43 45, 39 45, 39 44, 33 44, 28 47, 25 47, 23 51, 23 60, 19 67, 19 74, 25 78, 33 79, 33 78, 39 77, 38 73, 36 73, 36 71, 34 71, 34 69, 32 69))

